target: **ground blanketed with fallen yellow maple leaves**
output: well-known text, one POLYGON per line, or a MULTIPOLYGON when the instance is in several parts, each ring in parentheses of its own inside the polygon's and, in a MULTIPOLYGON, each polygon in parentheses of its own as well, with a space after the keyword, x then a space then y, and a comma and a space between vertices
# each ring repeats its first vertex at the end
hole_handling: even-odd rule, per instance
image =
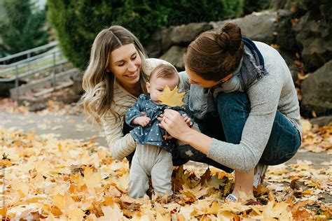
MULTIPOLYGON (((303 147, 331 154, 331 126, 310 125, 303 147), (323 144, 322 144, 323 143, 323 144)), ((303 149, 305 150, 305 149, 303 149)), ((0 218, 9 220, 326 220, 332 218, 332 162, 270 166, 254 197, 224 201, 234 179, 213 167, 174 168, 174 197, 127 195, 126 160, 107 148, 0 129, 0 218), (329 198, 328 198, 329 197, 329 198)))

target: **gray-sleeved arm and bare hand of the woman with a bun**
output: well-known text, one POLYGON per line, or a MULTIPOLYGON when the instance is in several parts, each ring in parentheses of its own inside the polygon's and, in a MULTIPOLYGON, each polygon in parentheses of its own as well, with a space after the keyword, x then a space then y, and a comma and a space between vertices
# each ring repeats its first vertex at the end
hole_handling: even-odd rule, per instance
MULTIPOLYGON (((280 69, 275 67, 275 70, 280 69)), ((193 131, 171 110, 165 111, 162 127, 174 138, 190 143, 193 148, 207 154, 214 161, 246 173, 258 164, 268 143, 282 90, 279 76, 275 71, 249 88, 247 94, 251 101, 251 112, 244 124, 239 144, 218 141, 193 131)))

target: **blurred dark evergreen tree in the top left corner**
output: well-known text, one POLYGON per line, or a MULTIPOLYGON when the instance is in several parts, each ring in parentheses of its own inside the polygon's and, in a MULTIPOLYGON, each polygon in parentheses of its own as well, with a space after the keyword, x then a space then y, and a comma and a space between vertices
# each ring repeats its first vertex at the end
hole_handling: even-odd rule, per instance
POLYGON ((0 55, 15 54, 47 43, 46 11, 29 1, 5 0, 6 17, 0 21, 0 55))

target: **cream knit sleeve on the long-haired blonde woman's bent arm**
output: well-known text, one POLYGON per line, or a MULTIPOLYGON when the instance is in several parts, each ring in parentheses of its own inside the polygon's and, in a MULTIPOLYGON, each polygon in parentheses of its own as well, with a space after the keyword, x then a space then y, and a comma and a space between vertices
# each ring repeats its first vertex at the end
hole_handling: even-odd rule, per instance
POLYGON ((123 136, 123 120, 113 115, 102 117, 106 141, 109 144, 112 157, 115 159, 123 159, 130 155, 136 148, 136 142, 130 134, 123 136))

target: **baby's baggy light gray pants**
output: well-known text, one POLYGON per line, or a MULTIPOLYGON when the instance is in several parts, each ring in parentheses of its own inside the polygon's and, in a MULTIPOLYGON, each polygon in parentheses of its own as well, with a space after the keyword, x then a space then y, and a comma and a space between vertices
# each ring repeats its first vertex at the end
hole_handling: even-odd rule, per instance
POLYGON ((150 144, 137 144, 130 167, 129 195, 135 199, 144 197, 148 190, 148 177, 151 177, 155 192, 172 195, 172 154, 150 144))

